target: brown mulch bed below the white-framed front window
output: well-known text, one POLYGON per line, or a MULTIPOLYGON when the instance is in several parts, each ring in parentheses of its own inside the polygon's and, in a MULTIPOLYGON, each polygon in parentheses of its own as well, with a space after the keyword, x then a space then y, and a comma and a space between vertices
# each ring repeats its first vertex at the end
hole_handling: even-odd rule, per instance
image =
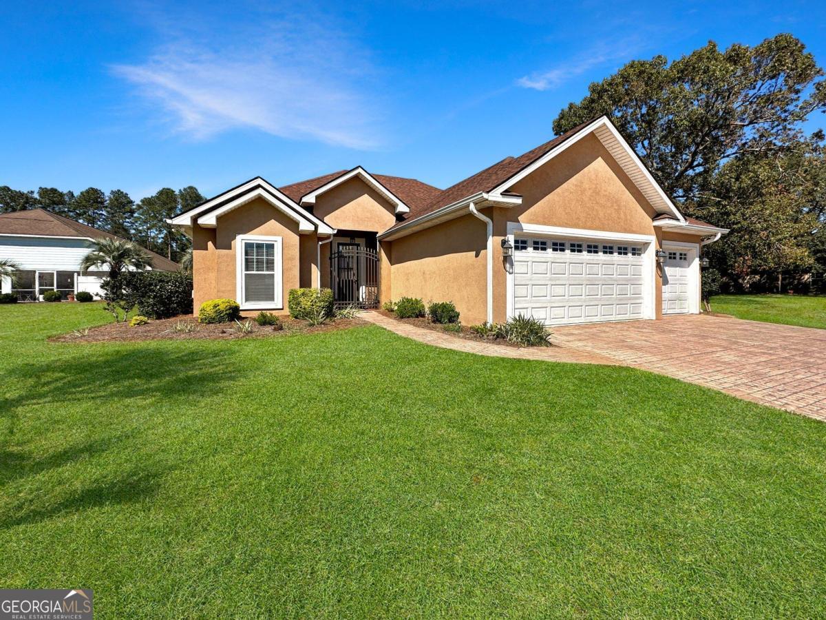
MULTIPOLYGON (((247 319, 242 319, 242 322, 247 319)), ((325 322, 322 325, 312 327, 306 321, 299 321, 292 318, 283 318, 283 329, 273 330, 272 326, 259 326, 258 323, 249 319, 252 323, 253 331, 249 334, 240 333, 235 329, 235 323, 207 324, 197 322, 197 318, 191 314, 181 317, 158 319, 150 321, 145 325, 129 327, 129 323, 108 323, 100 327, 89 327, 88 334, 79 333, 63 334, 50 338, 50 342, 135 342, 149 340, 235 340, 238 338, 269 338, 273 336, 286 336, 296 333, 320 333, 322 331, 335 331, 339 329, 349 329, 356 325, 363 325, 364 322, 358 318, 339 318, 335 321, 325 322), (197 331, 175 331, 177 323, 191 323, 197 325, 197 331)))

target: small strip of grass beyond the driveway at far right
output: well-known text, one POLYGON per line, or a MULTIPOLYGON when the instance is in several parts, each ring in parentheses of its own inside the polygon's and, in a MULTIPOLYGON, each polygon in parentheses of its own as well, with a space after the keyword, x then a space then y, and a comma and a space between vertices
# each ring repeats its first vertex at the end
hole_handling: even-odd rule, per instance
POLYGON ((749 321, 826 329, 824 295, 717 295, 711 310, 749 321))

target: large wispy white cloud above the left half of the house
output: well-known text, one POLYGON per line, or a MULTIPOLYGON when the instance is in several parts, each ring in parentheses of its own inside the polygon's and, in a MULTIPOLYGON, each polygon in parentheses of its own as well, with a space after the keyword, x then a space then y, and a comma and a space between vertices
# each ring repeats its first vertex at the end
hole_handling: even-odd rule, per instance
POLYGON ((112 71, 135 85, 173 131, 206 140, 230 129, 355 149, 382 143, 366 55, 329 23, 296 16, 234 31, 188 24, 138 64, 112 71))

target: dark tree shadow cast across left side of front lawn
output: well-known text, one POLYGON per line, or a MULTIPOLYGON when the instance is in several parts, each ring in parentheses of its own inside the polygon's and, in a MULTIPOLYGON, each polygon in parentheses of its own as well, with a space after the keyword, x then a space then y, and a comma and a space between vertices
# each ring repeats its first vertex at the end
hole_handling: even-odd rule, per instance
POLYGON ((132 422, 129 414, 134 411, 137 417, 154 401, 184 407, 220 392, 238 374, 231 352, 213 348, 96 347, 82 351, 78 347, 78 354, 23 362, 4 373, 13 393, 0 398, 0 423, 6 426, 0 429, 0 489, 27 480, 15 503, 0 502, 0 528, 151 497, 162 475, 173 469, 173 455, 158 455, 140 464, 127 460, 135 465, 118 466, 114 474, 107 471, 107 455, 121 454, 129 450, 130 443, 140 441, 140 419, 132 422), (106 419, 109 412, 118 419, 127 416, 124 426, 134 430, 102 435, 95 423, 106 419), (28 425, 25 434, 17 433, 23 416, 28 425), (78 432, 93 439, 73 442, 78 432), (21 441, 17 435, 35 436, 36 441, 21 441), (104 469, 84 468, 95 471, 88 481, 73 470, 81 461, 98 459, 104 469))

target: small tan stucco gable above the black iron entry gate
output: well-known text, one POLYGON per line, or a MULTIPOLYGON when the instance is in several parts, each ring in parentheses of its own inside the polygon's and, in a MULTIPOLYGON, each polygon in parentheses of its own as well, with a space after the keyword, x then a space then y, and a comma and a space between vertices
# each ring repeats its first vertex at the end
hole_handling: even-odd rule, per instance
POLYGON ((396 223, 394 207, 359 177, 322 193, 313 214, 341 230, 383 232, 396 223))

